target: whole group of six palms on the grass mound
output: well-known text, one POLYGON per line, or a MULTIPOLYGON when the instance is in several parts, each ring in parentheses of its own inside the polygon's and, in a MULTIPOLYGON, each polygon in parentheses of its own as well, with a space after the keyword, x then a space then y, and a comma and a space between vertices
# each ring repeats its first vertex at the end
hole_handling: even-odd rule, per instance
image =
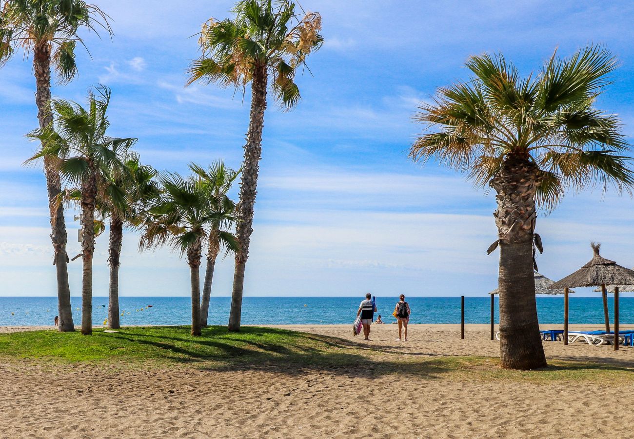
MULTIPOLYGON (((267 93, 280 107, 299 102, 298 69, 320 48, 321 16, 295 10, 288 0, 241 0, 234 18, 210 18, 200 33, 200 56, 192 63, 187 85, 215 82, 245 91, 252 100, 244 146, 240 202, 226 194, 240 171, 216 162, 207 169, 191 164, 192 175, 157 173, 142 165, 131 148, 135 138, 112 138, 107 109, 110 89, 91 90, 86 108, 51 100, 51 68, 60 84, 77 73, 75 47, 81 29, 112 36, 108 15, 83 0, 0 0, 0 66, 22 48, 33 59, 39 129, 29 133, 41 147, 31 161, 42 159, 51 213, 51 240, 57 275, 59 330, 74 331, 70 307, 64 208, 81 207, 82 334, 91 334, 92 266, 95 237, 110 222, 108 327, 119 327, 119 260, 124 226, 141 230, 139 247, 169 244, 186 254, 191 271, 193 335, 207 325, 216 258, 222 249, 235 252, 229 329, 240 330, 245 265, 253 231, 257 175, 267 93), (66 185, 63 187, 63 183, 66 185), (235 234, 232 228, 235 226, 235 234), (202 303, 199 269, 207 247, 202 303)), ((73 259, 75 259, 73 258, 73 259)))

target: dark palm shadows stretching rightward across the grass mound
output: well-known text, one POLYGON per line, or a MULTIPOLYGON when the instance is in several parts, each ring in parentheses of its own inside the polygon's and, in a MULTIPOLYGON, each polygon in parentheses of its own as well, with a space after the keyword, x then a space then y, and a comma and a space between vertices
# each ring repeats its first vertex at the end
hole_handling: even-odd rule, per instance
POLYGON ((202 337, 191 337, 187 334, 189 327, 172 329, 183 331, 185 334, 147 334, 136 330, 126 331, 125 328, 113 334, 94 334, 150 346, 157 350, 156 355, 164 360, 178 364, 193 364, 210 371, 275 370, 289 376, 307 372, 328 372, 365 378, 399 374, 433 379, 459 367, 459 361, 455 358, 430 358, 422 361, 368 358, 361 355, 361 351, 372 351, 370 346, 304 332, 245 327, 238 335, 223 328, 213 327, 204 329, 202 337), (266 339, 267 336, 276 337, 280 334, 292 335, 293 338, 288 344, 266 339), (260 336, 262 341, 254 341, 254 337, 260 336))

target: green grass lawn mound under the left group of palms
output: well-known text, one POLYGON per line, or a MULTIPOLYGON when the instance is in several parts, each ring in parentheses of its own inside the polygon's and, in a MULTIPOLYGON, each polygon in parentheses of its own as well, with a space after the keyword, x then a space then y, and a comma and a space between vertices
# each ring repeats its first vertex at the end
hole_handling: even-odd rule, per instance
POLYGON ((119 332, 24 331, 0 334, 0 356, 48 362, 195 363, 226 360, 293 360, 332 348, 328 337, 263 327, 203 329, 190 335, 188 326, 129 327, 119 332))

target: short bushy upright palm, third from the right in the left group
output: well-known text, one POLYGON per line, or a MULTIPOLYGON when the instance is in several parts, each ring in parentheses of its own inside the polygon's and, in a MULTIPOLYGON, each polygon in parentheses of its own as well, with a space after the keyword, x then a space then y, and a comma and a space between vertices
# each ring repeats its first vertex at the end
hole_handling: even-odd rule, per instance
POLYGON ((150 202, 139 248, 169 244, 187 255, 191 277, 191 335, 200 336, 200 259, 202 247, 209 239, 207 229, 213 221, 233 218, 212 209, 207 187, 199 178, 160 174, 159 183, 162 191, 150 202))

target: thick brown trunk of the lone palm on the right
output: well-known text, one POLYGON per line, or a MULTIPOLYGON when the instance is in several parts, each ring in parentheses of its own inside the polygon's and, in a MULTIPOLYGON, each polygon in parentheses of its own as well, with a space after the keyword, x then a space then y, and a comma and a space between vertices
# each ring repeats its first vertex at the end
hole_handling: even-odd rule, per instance
POLYGON ((489 182, 498 193, 498 209, 493 215, 500 238, 500 360, 505 369, 547 365, 533 275, 536 171, 524 157, 508 157, 489 182))

